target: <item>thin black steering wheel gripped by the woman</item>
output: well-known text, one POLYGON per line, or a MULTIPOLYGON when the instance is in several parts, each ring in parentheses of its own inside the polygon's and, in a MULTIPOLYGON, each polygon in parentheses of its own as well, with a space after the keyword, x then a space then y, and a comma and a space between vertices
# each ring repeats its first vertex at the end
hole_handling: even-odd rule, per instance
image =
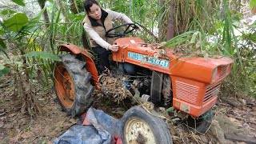
POLYGON ((115 26, 110 30, 107 30, 106 37, 108 37, 108 38, 124 37, 124 36, 126 36, 126 34, 129 34, 130 32, 132 32, 133 30, 135 30, 137 28, 138 28, 138 26, 136 26, 134 23, 125 23, 120 26, 115 26), (110 33, 111 31, 116 30, 119 27, 125 27, 125 26, 126 26, 126 30, 120 30, 118 33, 115 33, 115 34, 110 33), (133 26, 131 30, 129 30, 130 26, 133 26))

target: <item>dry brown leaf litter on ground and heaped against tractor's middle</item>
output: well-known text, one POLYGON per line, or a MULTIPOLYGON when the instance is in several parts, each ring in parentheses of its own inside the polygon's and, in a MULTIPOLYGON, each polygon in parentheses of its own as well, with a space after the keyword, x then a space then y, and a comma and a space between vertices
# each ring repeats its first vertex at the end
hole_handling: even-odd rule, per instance
MULTIPOLYGON (((0 78, 0 81, 9 80, 10 75, 0 78)), ((122 114, 136 105, 130 98, 130 93, 126 90, 126 85, 123 78, 115 78, 108 73, 100 76, 100 85, 105 87, 105 91, 95 90, 94 92, 94 108, 103 110, 106 114, 110 114, 114 118, 122 118, 122 114)), ((52 85, 52 83, 49 83, 52 85)), ((1 84, 0 84, 1 86, 1 84)), ((42 114, 38 114, 37 118, 31 118, 30 115, 22 114, 19 108, 22 106, 17 97, 11 94, 11 91, 6 91, 6 88, 13 87, 13 83, 9 82, 0 89, 1 97, 0 103, 0 139, 4 143, 10 142, 24 142, 24 143, 51 143, 55 138, 58 138, 66 130, 78 122, 78 118, 70 118, 62 111, 61 106, 56 101, 56 95, 53 90, 44 90, 41 86, 37 86, 36 98, 38 106, 42 110, 42 114), (38 95, 39 94, 39 95, 38 95), (6 98, 10 97, 10 98, 6 98)), ((234 100, 234 99, 230 99, 234 100)), ((214 106, 214 121, 206 134, 195 135, 186 133, 178 125, 168 121, 171 119, 166 109, 159 110, 159 114, 166 118, 167 126, 174 143, 222 143, 222 141, 231 142, 224 136, 226 132, 238 134, 248 134, 250 137, 256 137, 256 118, 255 100, 250 98, 241 98, 239 102, 241 105, 232 107, 226 102, 218 99, 216 106, 214 106), (222 123, 229 123, 222 126, 222 123), (237 127, 238 129, 231 129, 228 126, 237 127), (246 130, 245 130, 246 129, 246 130), (229 130, 229 131, 226 131, 229 130)), ((140 103, 146 106, 146 109, 151 110, 151 104, 140 103)))

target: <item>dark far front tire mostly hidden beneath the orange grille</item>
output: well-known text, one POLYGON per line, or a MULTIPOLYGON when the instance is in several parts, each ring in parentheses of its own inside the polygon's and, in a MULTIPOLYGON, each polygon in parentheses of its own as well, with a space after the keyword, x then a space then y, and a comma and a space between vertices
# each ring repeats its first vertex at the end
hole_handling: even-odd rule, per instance
POLYGON ((187 132, 193 132, 194 134, 205 134, 211 125, 213 120, 213 111, 210 109, 205 114, 202 114, 199 118, 193 118, 189 116, 182 121, 182 128, 187 132))

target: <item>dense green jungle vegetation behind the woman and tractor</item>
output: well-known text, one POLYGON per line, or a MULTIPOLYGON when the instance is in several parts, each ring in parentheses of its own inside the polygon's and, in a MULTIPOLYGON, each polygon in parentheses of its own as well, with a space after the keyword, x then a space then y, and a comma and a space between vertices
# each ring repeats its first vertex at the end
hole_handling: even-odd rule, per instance
MULTIPOLYGON (((232 74, 223 85, 223 94, 256 98, 256 23, 242 22, 242 0, 98 0, 103 8, 122 12, 143 28, 136 33, 146 42, 165 42, 166 46, 186 43, 199 45, 203 54, 234 59, 232 74), (238 33, 238 34, 237 34, 238 33), (173 36, 183 34, 174 40, 173 36), (209 42, 209 40, 211 42, 209 42)), ((247 1, 246 1, 247 2, 247 1)), ((250 8, 256 1, 248 1, 250 8)), ((82 47, 81 0, 8 0, 0 2, 0 76, 15 75, 19 95, 37 80, 42 86, 52 83, 54 62, 59 61, 58 45, 72 43, 82 47), (19 87, 19 88, 18 88, 19 87)), ((205 56, 206 56, 205 55, 205 56)), ((32 89, 32 86, 30 87, 32 89)), ((29 90, 30 90, 29 89, 29 90)), ((31 100, 32 98, 32 100, 31 100)), ((32 101, 32 102, 31 102, 32 101)), ((37 113, 40 110, 34 109, 37 113)))

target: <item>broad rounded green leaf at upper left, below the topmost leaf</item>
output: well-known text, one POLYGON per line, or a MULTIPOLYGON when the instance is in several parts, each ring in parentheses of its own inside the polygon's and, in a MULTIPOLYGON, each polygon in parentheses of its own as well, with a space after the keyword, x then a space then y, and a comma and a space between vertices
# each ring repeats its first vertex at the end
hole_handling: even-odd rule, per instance
POLYGON ((13 17, 4 21, 3 24, 8 30, 18 32, 19 30, 22 30, 22 26, 25 26, 27 22, 28 18, 26 17, 26 14, 17 13, 14 14, 13 17))

